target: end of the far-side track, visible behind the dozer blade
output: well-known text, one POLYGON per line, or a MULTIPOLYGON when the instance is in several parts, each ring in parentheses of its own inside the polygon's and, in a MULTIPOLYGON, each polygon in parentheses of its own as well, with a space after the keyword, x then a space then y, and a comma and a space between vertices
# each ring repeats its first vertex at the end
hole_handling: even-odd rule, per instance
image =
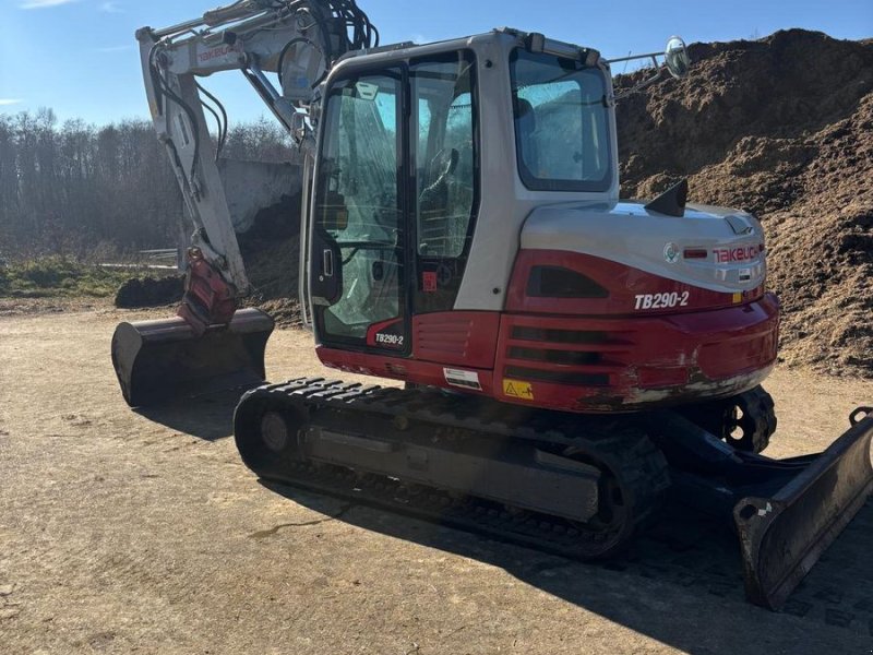
POLYGON ((773 397, 762 386, 683 412, 692 421, 737 450, 761 453, 776 431, 773 397))

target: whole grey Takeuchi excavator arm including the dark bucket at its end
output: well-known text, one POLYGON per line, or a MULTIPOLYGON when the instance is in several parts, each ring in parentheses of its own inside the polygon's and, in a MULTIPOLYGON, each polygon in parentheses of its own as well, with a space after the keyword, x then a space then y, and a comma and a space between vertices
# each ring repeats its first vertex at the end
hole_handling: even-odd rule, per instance
MULTIPOLYGON (((179 318, 121 323, 112 337, 124 400, 143 406, 262 382, 274 327, 262 311, 238 311, 253 289, 235 217, 253 216, 292 195, 288 168, 271 177, 264 163, 223 158, 227 115, 199 79, 241 72, 288 131, 302 162, 306 217, 319 85, 339 58, 375 47, 379 35, 355 0, 240 0, 163 29, 143 27, 136 38, 155 131, 194 223, 179 318)), ((301 226, 304 240, 306 221, 301 226)), ((304 299, 304 274, 300 286, 304 299)))

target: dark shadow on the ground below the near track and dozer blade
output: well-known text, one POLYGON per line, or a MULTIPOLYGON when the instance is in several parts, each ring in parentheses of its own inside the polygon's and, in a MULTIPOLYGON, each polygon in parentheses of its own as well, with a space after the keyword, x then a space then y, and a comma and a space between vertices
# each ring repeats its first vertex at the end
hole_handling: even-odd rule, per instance
POLYGON ((821 653, 825 647, 869 652, 873 643, 873 501, 776 614, 745 602, 732 532, 679 508, 668 509, 663 521, 624 556, 583 563, 367 504, 349 509, 348 499, 262 484, 335 520, 499 567, 526 584, 695 655, 821 653))

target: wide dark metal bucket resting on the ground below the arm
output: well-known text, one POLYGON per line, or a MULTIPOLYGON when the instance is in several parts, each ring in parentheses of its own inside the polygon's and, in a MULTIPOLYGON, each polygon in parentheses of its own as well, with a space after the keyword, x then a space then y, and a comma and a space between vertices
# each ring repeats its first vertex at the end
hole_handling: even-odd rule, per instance
POLYGON ((121 323, 112 336, 112 366, 131 407, 263 383, 273 319, 258 309, 234 314, 202 336, 182 319, 121 323))

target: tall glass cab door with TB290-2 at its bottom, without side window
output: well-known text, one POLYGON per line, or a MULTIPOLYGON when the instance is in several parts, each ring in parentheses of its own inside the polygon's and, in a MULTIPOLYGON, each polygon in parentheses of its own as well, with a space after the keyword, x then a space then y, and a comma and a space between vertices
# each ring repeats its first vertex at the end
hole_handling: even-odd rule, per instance
POLYGON ((403 71, 335 82, 321 124, 310 253, 320 343, 410 352, 403 71))

